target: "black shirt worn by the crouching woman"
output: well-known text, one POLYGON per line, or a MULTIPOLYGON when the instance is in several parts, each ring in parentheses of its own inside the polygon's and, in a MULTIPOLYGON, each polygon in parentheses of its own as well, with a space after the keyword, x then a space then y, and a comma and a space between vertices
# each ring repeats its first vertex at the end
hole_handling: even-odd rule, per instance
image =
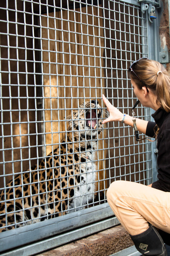
POLYGON ((157 165, 158 181, 152 183, 152 187, 166 192, 170 192, 170 113, 159 108, 152 114, 155 122, 148 122, 146 135, 154 136, 153 128, 157 124, 159 133, 157 136, 157 165))

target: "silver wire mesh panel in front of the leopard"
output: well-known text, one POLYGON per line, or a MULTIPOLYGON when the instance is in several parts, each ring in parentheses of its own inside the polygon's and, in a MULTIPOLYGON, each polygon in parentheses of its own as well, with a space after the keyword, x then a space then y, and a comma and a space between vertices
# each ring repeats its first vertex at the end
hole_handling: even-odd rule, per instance
POLYGON ((102 205, 114 180, 147 184, 150 143, 121 123, 101 124, 102 94, 127 114, 136 101, 127 69, 147 56, 139 6, 0 5, 0 230, 102 205))

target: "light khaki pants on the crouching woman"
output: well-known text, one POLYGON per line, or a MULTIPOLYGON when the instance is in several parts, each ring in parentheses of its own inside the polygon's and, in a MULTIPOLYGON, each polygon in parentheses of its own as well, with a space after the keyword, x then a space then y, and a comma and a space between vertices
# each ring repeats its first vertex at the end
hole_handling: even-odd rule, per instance
POLYGON ((115 181, 107 201, 124 228, 137 235, 154 227, 170 233, 170 193, 129 181, 115 181))

